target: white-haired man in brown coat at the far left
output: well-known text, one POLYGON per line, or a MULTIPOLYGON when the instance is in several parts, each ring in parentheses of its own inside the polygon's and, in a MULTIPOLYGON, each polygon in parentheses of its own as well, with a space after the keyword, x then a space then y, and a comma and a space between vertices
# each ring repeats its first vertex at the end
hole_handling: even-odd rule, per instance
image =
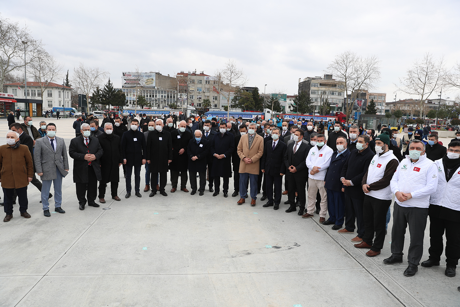
POLYGON ((29 147, 21 145, 19 133, 9 131, 6 133, 6 145, 0 146, 0 182, 5 196, 4 210, 6 213, 4 222, 13 218, 13 193, 17 191, 19 200, 19 212, 26 219, 30 218, 27 213, 29 202, 27 200, 27 186, 34 176, 34 162, 29 147))

